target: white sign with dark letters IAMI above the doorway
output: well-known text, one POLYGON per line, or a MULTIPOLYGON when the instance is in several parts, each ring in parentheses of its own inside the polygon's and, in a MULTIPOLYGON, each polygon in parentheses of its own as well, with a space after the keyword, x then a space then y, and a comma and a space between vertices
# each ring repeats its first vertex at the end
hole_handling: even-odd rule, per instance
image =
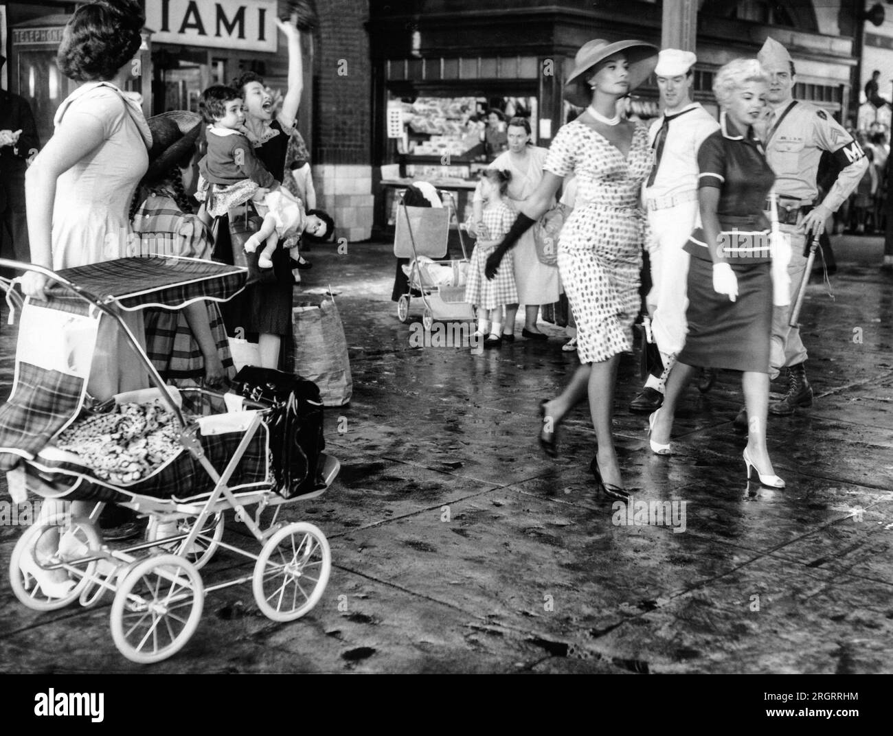
POLYGON ((276 51, 276 0, 146 0, 152 42, 276 51))

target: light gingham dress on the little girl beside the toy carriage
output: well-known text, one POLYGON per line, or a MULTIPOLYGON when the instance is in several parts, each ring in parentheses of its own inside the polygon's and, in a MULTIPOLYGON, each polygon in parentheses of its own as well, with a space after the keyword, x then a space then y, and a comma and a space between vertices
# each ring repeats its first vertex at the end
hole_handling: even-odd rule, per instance
POLYGON ((514 284, 514 260, 512 252, 505 253, 499 270, 492 281, 484 276, 484 267, 497 245, 482 247, 480 240, 500 241, 511 229, 515 214, 503 202, 498 202, 484 210, 481 217, 487 227, 487 233, 480 236, 479 243, 474 246, 472 262, 468 267, 468 281, 465 282, 465 302, 474 304, 482 310, 495 310, 503 304, 518 303, 518 289, 514 284))

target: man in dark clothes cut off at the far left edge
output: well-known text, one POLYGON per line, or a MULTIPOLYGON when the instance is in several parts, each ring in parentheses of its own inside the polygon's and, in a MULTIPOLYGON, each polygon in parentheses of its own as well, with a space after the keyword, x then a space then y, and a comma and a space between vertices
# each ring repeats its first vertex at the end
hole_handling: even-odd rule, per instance
MULTIPOLYGON (((0 68, 6 59, 0 56, 0 68)), ((0 89, 0 252, 30 262, 25 216, 25 170, 40 142, 24 97, 0 89)))

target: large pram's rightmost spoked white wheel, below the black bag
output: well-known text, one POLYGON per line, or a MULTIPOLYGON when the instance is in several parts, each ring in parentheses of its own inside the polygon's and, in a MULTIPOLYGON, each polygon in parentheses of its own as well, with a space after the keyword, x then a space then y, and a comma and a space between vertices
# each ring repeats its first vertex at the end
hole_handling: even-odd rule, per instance
POLYGON ((325 535, 313 524, 296 522, 274 533, 255 564, 255 601, 273 621, 294 621, 322 597, 331 571, 325 535))

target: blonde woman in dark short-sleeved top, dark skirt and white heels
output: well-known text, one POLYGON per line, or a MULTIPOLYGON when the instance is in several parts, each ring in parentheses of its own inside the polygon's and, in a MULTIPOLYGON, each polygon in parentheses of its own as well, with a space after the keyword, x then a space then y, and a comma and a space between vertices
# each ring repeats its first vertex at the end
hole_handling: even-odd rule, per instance
POLYGON ((775 175, 754 125, 766 105, 768 80, 755 59, 736 59, 716 74, 720 129, 697 153, 702 227, 685 250, 689 264, 689 334, 667 379, 663 406, 649 419, 651 450, 672 453, 670 434, 680 394, 694 368, 742 372, 747 405, 747 477, 784 488, 766 448, 772 274, 769 220, 763 203, 775 175))

